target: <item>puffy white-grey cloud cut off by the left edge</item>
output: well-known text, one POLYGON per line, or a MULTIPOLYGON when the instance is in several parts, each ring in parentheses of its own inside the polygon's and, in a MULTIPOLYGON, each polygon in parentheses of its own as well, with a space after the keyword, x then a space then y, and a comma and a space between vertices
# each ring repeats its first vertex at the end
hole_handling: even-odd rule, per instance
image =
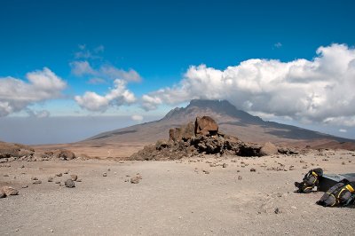
POLYGON ((67 87, 59 76, 47 67, 26 75, 28 82, 13 78, 0 78, 0 116, 27 108, 36 102, 59 98, 67 87))

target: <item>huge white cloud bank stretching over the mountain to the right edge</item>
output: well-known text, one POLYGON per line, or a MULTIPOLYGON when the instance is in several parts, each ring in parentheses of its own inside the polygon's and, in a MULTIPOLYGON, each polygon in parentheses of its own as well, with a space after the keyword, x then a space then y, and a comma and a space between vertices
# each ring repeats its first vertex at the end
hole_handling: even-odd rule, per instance
POLYGON ((335 43, 316 52, 312 60, 248 59, 225 70, 193 66, 177 85, 144 95, 142 106, 227 99, 248 112, 354 126, 355 50, 335 43))

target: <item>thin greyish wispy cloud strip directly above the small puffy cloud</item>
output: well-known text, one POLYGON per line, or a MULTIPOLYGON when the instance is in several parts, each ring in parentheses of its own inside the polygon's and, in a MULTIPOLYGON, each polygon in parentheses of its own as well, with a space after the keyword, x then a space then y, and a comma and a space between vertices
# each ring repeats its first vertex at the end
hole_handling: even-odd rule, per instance
POLYGON ((133 69, 126 71, 111 65, 103 65, 94 69, 87 60, 73 61, 70 63, 70 67, 72 68, 72 74, 76 76, 91 75, 101 79, 120 79, 127 82, 140 82, 142 80, 138 72, 133 69))

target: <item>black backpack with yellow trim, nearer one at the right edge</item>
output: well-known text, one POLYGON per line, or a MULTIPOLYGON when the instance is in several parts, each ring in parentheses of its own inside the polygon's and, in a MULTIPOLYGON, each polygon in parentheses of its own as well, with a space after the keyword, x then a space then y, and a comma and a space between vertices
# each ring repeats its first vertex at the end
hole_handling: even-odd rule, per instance
POLYGON ((351 206, 355 201, 355 182, 343 179, 336 185, 329 188, 327 193, 317 201, 323 207, 351 206))

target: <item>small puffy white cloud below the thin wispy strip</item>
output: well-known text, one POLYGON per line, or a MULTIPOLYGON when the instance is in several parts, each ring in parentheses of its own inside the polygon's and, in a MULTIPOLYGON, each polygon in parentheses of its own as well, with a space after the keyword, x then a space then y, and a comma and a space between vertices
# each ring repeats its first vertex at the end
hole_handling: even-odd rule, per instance
POLYGON ((116 79, 114 80, 114 88, 109 90, 105 96, 93 91, 86 91, 83 96, 75 96, 75 101, 82 108, 92 112, 105 112, 110 106, 130 105, 136 101, 136 98, 126 88, 126 83, 116 79))

